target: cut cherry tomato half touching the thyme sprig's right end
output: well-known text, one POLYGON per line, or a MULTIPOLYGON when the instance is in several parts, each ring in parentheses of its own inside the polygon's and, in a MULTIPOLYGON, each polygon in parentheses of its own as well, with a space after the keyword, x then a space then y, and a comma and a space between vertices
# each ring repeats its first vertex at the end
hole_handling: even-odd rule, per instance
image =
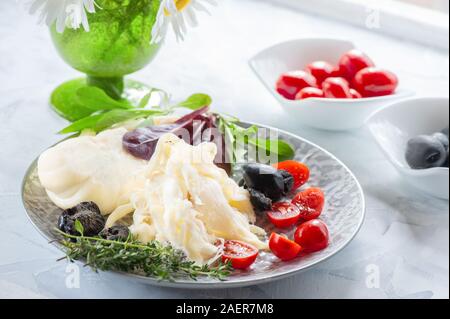
POLYGON ((222 262, 231 262, 235 269, 247 269, 255 262, 258 253, 258 249, 250 244, 227 240, 224 245, 222 262))

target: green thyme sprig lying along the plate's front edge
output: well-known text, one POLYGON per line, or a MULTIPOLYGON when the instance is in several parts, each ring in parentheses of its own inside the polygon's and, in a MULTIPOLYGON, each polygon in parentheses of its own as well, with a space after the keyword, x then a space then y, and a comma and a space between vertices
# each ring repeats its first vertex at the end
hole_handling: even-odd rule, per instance
POLYGON ((143 244, 132 236, 122 242, 57 231, 63 237, 59 242, 65 248, 66 257, 70 261, 84 260, 94 271, 123 271, 160 281, 199 277, 223 281, 231 274, 230 264, 199 266, 189 261, 181 250, 156 240, 143 244))

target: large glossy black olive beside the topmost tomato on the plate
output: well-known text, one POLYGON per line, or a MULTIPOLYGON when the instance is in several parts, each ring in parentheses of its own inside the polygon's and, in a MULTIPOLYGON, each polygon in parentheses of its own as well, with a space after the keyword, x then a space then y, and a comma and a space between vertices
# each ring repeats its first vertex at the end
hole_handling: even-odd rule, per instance
POLYGON ((277 169, 263 164, 247 164, 242 169, 247 188, 260 191, 273 201, 285 195, 284 177, 277 169))

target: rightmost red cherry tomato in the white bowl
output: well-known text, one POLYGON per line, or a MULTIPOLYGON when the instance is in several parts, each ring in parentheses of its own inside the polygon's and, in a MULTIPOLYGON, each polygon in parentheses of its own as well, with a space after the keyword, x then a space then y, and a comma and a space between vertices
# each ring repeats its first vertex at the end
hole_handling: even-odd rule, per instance
POLYGON ((353 86, 364 97, 391 95, 398 86, 397 76, 379 68, 367 68, 359 71, 353 86))

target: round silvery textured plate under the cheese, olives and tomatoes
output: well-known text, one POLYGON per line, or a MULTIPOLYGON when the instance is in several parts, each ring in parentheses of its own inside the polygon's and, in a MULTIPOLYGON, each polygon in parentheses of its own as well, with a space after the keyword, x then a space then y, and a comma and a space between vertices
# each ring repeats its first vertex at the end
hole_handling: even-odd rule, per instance
MULTIPOLYGON (((270 253, 261 253, 250 270, 236 271, 224 282, 208 278, 199 278, 198 281, 178 279, 175 282, 159 282, 143 276, 124 273, 122 275, 165 287, 208 289, 250 286, 297 274, 334 256, 350 243, 358 233, 365 213, 364 194, 352 172, 336 157, 300 137, 261 125, 259 127, 276 131, 281 139, 291 143, 296 149, 295 158, 305 162, 311 169, 311 178, 307 186, 317 186, 324 190, 326 207, 321 218, 330 230, 329 247, 291 262, 281 262, 270 253)), ((39 182, 36 163, 31 165, 25 176, 23 202, 31 222, 38 231, 48 240, 56 239, 54 229, 61 210, 50 201, 39 182)), ((260 220, 258 225, 264 227, 269 234, 275 230, 266 219, 260 220)), ((291 229, 286 233, 292 236, 293 231, 294 229, 291 229)))

